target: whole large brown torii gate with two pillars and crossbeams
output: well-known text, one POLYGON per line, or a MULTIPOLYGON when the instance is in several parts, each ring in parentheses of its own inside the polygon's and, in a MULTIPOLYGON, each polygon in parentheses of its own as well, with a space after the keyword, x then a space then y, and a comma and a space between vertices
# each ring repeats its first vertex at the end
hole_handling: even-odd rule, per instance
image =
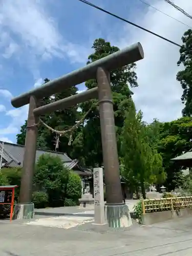
POLYGON ((107 216, 110 216, 111 219, 114 219, 114 221, 117 221, 118 223, 123 216, 126 216, 129 209, 122 200, 113 98, 110 86, 110 71, 116 70, 143 58, 144 53, 142 46, 137 42, 136 44, 121 51, 92 62, 84 68, 49 81, 43 86, 11 100, 11 103, 15 108, 19 108, 20 106, 29 103, 23 174, 20 185, 19 203, 16 204, 14 211, 15 218, 31 219, 34 217, 34 204, 31 200, 38 132, 38 117, 59 109, 68 108, 69 106, 73 106, 93 98, 98 98, 99 100, 104 179, 106 185, 105 206, 107 216), (63 89, 76 86, 77 84, 95 78, 97 79, 98 86, 96 88, 47 105, 38 106, 39 100, 43 97, 60 93, 63 89))

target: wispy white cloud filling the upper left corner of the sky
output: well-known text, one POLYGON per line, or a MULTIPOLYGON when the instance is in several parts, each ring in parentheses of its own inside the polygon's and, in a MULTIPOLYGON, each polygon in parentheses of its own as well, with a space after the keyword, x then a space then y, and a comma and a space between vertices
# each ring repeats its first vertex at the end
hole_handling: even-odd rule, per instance
POLYGON ((87 57, 87 48, 74 45, 61 36, 56 21, 47 12, 48 6, 36 0, 1 3, 0 49, 4 49, 3 56, 9 58, 16 52, 17 60, 28 61, 33 73, 38 70, 39 58, 68 56, 72 62, 84 62, 87 57))

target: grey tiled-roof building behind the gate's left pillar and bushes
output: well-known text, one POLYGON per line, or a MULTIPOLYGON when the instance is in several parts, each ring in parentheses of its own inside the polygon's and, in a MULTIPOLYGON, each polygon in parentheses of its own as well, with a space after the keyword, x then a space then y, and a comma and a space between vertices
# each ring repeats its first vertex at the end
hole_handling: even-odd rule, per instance
MULTIPOLYGON (((2 167, 23 167, 25 146, 17 145, 9 142, 0 141, 0 156, 2 157, 2 167)), ((78 164, 78 160, 72 160, 66 153, 41 150, 37 148, 35 162, 43 154, 50 154, 51 156, 58 156, 63 162, 63 165, 73 170, 78 174, 82 180, 82 190, 84 183, 89 177, 92 177, 92 172, 89 169, 82 168, 78 164)))

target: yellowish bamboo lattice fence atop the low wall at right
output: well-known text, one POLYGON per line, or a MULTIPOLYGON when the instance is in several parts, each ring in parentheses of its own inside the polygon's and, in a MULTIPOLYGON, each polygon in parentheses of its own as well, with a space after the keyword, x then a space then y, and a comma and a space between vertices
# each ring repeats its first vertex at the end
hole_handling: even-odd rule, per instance
POLYGON ((142 199, 142 214, 166 210, 179 210, 190 207, 192 207, 192 196, 142 199))

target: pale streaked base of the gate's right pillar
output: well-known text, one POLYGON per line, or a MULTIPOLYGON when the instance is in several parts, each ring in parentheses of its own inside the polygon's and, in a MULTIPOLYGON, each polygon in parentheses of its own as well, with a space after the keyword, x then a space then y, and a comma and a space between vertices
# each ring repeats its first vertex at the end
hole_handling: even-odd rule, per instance
POLYGON ((110 227, 130 227, 133 225, 129 207, 122 204, 105 204, 105 218, 110 227))

